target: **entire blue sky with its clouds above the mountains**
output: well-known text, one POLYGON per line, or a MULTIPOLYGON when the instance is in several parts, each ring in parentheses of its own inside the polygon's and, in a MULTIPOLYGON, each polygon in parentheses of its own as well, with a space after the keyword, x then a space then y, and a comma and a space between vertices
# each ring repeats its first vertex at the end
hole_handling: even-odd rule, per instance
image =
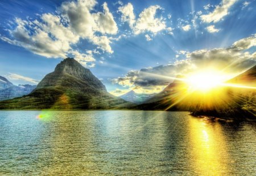
POLYGON ((255 0, 0 2, 0 75, 37 84, 73 57, 114 95, 256 65, 255 0))

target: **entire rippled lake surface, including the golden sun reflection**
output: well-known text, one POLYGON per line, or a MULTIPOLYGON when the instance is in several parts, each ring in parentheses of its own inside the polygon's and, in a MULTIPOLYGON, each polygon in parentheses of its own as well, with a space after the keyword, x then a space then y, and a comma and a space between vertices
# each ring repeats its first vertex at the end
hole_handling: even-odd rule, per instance
POLYGON ((0 175, 256 175, 255 122, 166 111, 0 111, 0 175))

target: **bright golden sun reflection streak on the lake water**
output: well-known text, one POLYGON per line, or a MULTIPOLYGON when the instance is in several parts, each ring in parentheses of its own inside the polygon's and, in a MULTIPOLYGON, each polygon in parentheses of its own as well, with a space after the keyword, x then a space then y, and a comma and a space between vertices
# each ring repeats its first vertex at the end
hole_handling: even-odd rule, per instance
POLYGON ((228 152, 218 122, 189 118, 191 167, 200 175, 222 175, 228 171, 228 152))

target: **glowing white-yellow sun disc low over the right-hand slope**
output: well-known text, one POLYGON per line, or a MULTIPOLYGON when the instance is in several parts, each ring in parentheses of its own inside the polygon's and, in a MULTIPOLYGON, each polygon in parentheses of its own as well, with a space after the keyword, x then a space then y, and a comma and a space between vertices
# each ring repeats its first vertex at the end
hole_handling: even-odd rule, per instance
POLYGON ((226 75, 216 70, 203 70, 188 75, 186 82, 193 91, 208 92, 226 80, 226 75))

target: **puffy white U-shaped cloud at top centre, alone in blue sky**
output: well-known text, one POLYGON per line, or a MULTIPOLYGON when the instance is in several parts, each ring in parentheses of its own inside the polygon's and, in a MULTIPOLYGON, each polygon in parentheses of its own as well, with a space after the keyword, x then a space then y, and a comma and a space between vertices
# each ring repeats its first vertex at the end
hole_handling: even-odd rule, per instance
POLYGON ((127 5, 119 7, 118 12, 121 12, 121 20, 122 22, 129 23, 131 29, 133 29, 133 33, 138 35, 144 32, 157 33, 166 29, 166 22, 164 18, 160 16, 160 18, 155 18, 157 10, 163 10, 162 7, 150 6, 145 8, 139 17, 136 19, 135 14, 133 12, 134 8, 131 3, 127 3, 127 5))

